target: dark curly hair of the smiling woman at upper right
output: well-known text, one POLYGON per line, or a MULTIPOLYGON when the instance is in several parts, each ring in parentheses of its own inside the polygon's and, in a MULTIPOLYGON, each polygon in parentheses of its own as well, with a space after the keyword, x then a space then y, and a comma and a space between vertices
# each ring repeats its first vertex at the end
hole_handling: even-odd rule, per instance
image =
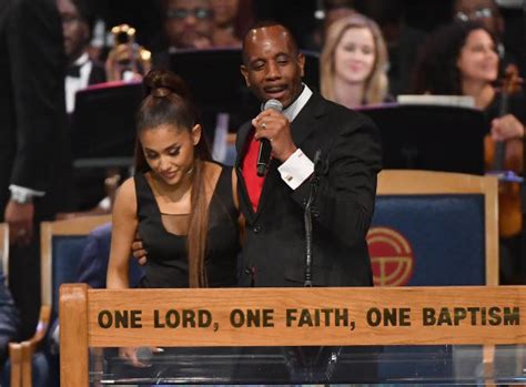
POLYGON ((467 37, 475 30, 485 30, 495 41, 492 33, 475 21, 443 26, 427 38, 415 67, 414 93, 462 95, 457 60, 467 37))

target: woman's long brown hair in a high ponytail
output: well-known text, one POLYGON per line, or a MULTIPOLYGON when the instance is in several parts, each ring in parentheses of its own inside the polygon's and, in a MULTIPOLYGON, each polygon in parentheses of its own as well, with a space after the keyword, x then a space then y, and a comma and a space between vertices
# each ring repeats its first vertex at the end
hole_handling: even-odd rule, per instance
MULTIPOLYGON (((156 130, 161 125, 173 125, 178 130, 191 133, 198 123, 198 113, 191 102, 185 82, 174 73, 164 70, 149 72, 143 81, 144 100, 136 112, 135 171, 145 173, 150 166, 144 157, 140 135, 146 130, 156 130)), ((206 286, 204 255, 209 225, 209 205, 204 191, 204 162, 211 154, 204 133, 201 134, 194 151, 192 172, 191 212, 188 231, 189 281, 191 287, 206 286)))

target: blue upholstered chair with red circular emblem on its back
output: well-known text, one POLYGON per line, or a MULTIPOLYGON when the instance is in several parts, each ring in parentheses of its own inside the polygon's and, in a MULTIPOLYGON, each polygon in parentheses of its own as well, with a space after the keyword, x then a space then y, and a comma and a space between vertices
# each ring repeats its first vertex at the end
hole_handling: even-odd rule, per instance
MULTIPOLYGON (((367 235, 375 285, 497 285, 497 205, 495 177, 383 171, 367 235)), ((381 377, 439 378, 457 373, 453 364, 456 367, 462 350, 451 346, 385 347, 378 373, 381 377)))

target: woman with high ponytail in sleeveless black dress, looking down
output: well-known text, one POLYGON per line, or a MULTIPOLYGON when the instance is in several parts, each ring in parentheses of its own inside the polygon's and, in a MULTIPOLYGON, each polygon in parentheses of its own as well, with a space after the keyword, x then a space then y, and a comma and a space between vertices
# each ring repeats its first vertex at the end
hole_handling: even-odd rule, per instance
MULTIPOLYGON (((108 288, 129 287, 136 232, 148 251, 142 287, 225 287, 236 284, 239 212, 231 167, 211 161, 182 80, 166 71, 143 80, 135 175, 113 207, 108 288)), ((135 348, 121 348, 143 366, 135 348)))

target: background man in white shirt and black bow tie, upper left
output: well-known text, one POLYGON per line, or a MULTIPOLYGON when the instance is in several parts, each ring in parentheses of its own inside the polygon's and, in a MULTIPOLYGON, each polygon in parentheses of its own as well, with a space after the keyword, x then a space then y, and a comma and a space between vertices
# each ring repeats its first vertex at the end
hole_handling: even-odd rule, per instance
POLYGON ((88 54, 92 18, 85 0, 57 0, 57 6, 62 19, 68 60, 65 108, 68 113, 72 113, 77 92, 90 84, 105 82, 105 71, 101 63, 92 61, 88 54))

